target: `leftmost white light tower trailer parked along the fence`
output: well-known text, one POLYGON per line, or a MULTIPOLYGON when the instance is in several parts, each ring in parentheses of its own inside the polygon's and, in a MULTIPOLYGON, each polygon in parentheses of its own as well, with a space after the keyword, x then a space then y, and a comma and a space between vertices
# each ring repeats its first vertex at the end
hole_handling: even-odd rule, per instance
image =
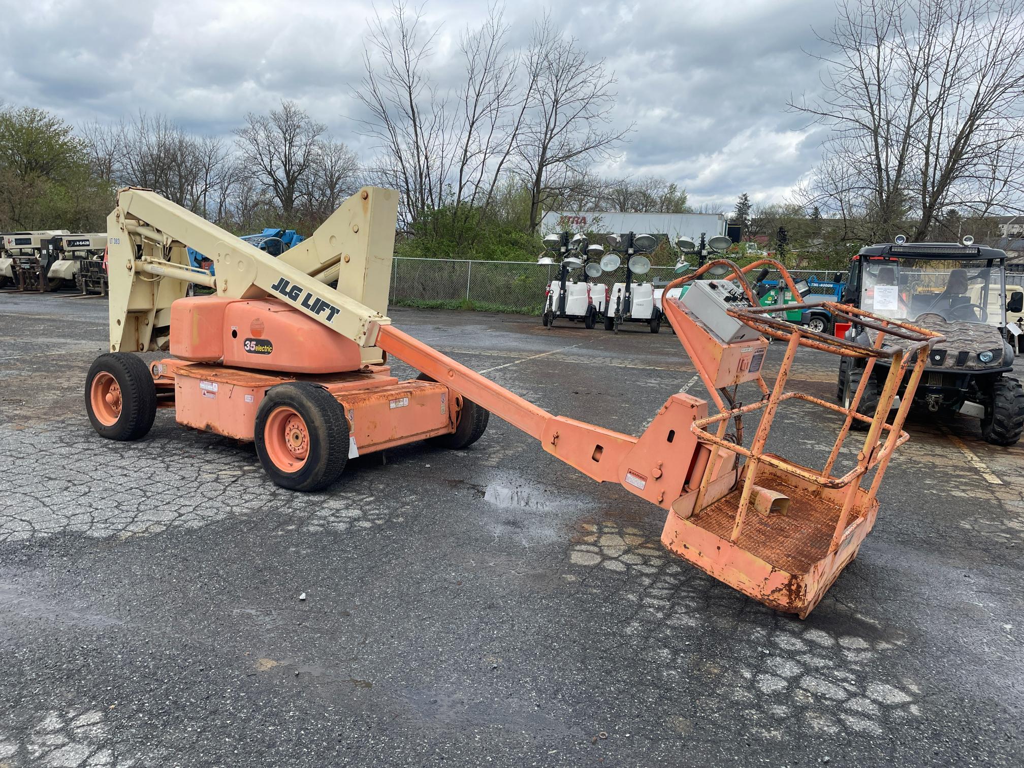
POLYGON ((608 298, 608 287, 603 283, 592 283, 592 278, 601 275, 601 266, 596 259, 604 254, 598 245, 590 245, 583 234, 571 232, 552 233, 544 239, 546 251, 538 259, 539 264, 554 264, 549 254, 561 257, 558 263, 558 278, 545 288, 544 313, 541 322, 551 328, 558 317, 582 321, 591 329, 602 316, 608 298), (570 270, 584 269, 584 280, 571 280, 570 270))

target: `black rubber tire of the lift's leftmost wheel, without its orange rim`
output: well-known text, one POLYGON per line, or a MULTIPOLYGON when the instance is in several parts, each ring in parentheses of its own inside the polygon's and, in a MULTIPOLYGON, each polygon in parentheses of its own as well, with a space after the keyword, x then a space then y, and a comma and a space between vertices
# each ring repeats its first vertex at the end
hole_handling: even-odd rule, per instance
POLYGON ((131 352, 106 352, 93 360, 85 378, 85 412, 92 428, 109 440, 137 440, 144 437, 157 417, 157 385, 150 367, 131 352), (92 380, 99 373, 114 377, 121 388, 121 416, 111 426, 100 423, 92 412, 92 380))

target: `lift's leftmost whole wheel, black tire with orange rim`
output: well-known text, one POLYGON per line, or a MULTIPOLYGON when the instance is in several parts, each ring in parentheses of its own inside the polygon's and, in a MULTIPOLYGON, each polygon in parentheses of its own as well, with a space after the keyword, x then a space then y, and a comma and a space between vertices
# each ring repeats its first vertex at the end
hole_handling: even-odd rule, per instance
POLYGON ((92 428, 110 440, 145 436, 157 416, 157 386, 131 352, 99 355, 85 380, 85 411, 92 428))

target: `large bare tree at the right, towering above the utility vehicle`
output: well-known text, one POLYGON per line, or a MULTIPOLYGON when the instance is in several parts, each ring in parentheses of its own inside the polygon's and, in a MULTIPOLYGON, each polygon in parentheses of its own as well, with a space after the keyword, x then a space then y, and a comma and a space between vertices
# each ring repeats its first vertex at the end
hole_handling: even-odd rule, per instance
MULTIPOLYGON (((879 241, 929 237, 949 207, 1021 210, 1024 2, 842 0, 821 37, 830 129, 809 199, 879 241), (913 223, 915 222, 915 223, 913 223)), ((806 202, 806 201, 805 201, 806 202)))

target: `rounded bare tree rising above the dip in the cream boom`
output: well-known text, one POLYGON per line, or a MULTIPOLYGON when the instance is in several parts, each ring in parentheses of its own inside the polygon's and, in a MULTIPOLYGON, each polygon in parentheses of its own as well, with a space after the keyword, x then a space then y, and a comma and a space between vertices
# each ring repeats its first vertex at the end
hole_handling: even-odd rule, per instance
POLYGON ((286 221, 295 215, 301 189, 312 173, 317 143, 327 126, 313 121, 294 101, 282 101, 269 115, 246 115, 234 131, 236 143, 252 177, 281 206, 286 221))

